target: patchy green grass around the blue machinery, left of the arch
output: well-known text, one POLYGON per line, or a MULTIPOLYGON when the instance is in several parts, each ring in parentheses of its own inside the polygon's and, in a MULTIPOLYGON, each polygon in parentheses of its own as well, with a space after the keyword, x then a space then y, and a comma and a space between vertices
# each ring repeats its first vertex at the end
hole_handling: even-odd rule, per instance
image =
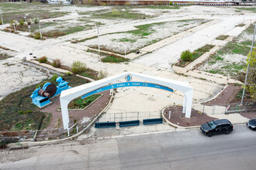
MULTIPOLYGON (((87 80, 78 76, 63 76, 71 87, 75 87, 87 80)), ((43 80, 33 86, 24 87, 0 100, 0 131, 20 131, 20 130, 38 130, 47 128, 50 123, 51 114, 40 112, 40 108, 32 104, 30 95, 37 87, 42 87, 44 83, 52 80, 43 80)))

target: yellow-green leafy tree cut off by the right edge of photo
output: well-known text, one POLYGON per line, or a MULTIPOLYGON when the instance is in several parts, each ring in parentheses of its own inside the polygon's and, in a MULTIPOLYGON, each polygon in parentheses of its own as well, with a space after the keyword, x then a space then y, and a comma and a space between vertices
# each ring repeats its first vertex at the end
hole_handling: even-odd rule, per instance
MULTIPOLYGON (((256 49, 247 56, 247 66, 250 64, 247 76, 247 91, 250 93, 251 98, 256 102, 256 49), (251 59, 250 59, 251 58, 251 59), (250 62, 249 62, 250 59, 250 62)), ((247 71, 247 67, 246 67, 247 71)))

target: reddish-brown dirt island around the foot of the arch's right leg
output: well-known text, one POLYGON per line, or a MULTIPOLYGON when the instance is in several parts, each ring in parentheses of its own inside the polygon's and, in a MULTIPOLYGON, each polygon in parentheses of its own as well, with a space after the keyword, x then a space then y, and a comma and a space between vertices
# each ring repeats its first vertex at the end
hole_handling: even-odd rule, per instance
POLYGON ((171 123, 182 127, 199 126, 201 124, 205 124, 206 121, 216 120, 215 117, 209 117, 195 109, 192 109, 191 117, 186 118, 185 114, 182 114, 182 106, 166 108, 164 110, 164 117, 166 117, 171 123), (171 119, 169 119, 169 111, 171 111, 171 119))

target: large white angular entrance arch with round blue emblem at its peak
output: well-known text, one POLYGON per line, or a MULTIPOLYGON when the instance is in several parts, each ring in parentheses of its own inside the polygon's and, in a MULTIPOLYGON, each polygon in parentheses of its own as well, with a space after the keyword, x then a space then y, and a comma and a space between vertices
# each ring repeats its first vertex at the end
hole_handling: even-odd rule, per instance
MULTIPOLYGON (((77 97, 81 97, 86 93, 90 93, 101 87, 106 87, 110 83, 116 80, 120 80, 126 76, 137 77, 142 80, 146 80, 148 83, 155 83, 156 85, 160 85, 162 87, 168 87, 169 89, 182 91, 184 93, 182 113, 185 113, 185 117, 190 118, 191 108, 192 108, 193 88, 189 86, 189 83, 185 83, 177 80, 170 80, 170 79, 161 78, 157 76, 148 76, 141 73, 125 72, 125 73, 120 73, 116 76, 109 76, 102 80, 93 81, 91 83, 86 83, 81 86, 73 87, 71 89, 62 91, 60 100, 61 100, 61 114, 62 114, 64 129, 68 129, 69 116, 68 116, 67 104, 69 104, 71 100, 77 97)), ((133 82, 130 82, 130 83, 133 83, 133 82)))

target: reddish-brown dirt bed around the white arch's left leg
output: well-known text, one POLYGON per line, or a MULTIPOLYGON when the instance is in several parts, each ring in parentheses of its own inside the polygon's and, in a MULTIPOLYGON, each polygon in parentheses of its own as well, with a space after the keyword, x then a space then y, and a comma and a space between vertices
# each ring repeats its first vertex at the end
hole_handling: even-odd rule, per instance
MULTIPOLYGON (((87 107, 85 110, 68 111, 70 124, 83 121, 84 118, 86 119, 86 121, 92 121, 95 115, 98 115, 106 107, 106 104, 108 104, 110 100, 109 90, 103 91, 99 94, 102 94, 102 97, 99 97, 98 100, 96 100, 92 105, 87 107)), ((51 102, 53 104, 40 111, 52 114, 52 121, 48 125, 47 129, 61 128, 63 127, 61 111, 57 110, 61 107, 60 97, 54 98, 53 100, 51 100, 51 102)))

